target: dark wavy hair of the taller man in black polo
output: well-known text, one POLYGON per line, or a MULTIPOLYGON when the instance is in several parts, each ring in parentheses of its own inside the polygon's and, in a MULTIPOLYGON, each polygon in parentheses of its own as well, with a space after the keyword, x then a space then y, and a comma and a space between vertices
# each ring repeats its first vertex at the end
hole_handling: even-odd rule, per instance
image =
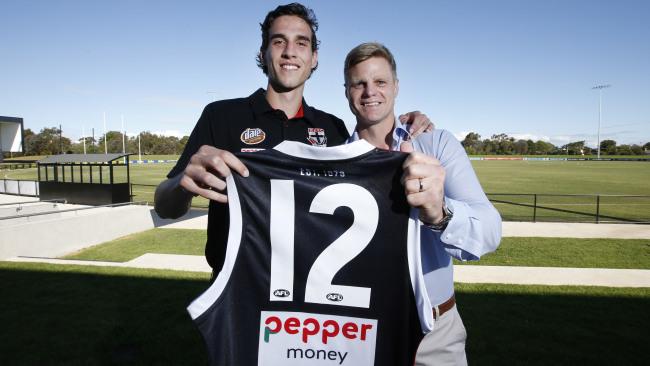
MULTIPOLYGON (((293 15, 297 16, 300 19, 304 20, 311 28, 311 51, 316 52, 318 50, 318 38, 316 38, 316 31, 318 30, 318 20, 316 20, 316 14, 310 8, 300 4, 300 3, 291 3, 287 5, 280 5, 275 10, 270 11, 266 14, 264 22, 260 23, 262 28, 262 46, 260 46, 260 53, 257 54, 256 61, 257 66, 262 69, 264 74, 268 74, 269 70, 264 63, 263 54, 266 52, 266 49, 269 47, 269 29, 273 21, 277 18, 284 15, 293 15)), ((311 72, 314 72, 318 64, 311 69, 311 72)))

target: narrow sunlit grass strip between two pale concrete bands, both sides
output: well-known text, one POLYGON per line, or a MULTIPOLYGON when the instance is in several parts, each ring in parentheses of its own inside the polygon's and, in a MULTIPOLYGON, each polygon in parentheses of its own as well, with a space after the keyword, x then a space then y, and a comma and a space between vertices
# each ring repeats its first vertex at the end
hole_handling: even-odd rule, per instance
MULTIPOLYGON (((203 255, 205 230, 152 229, 97 245, 67 259, 126 262, 146 253, 203 255)), ((457 262, 459 263, 459 262, 457 262)), ((650 269, 650 240, 503 238, 496 252, 467 264, 650 269)))

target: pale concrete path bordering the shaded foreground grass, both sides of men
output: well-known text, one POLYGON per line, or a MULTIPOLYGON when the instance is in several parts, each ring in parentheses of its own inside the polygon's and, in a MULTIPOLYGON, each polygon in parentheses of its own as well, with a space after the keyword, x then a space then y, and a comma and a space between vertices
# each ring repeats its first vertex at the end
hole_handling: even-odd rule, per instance
MULTIPOLYGON (((210 266, 205 261, 205 257, 195 255, 149 253, 124 263, 32 257, 14 257, 8 259, 8 261, 169 269, 191 272, 211 271, 210 266)), ((650 287, 650 270, 457 265, 454 266, 454 279, 455 282, 460 283, 650 287)))

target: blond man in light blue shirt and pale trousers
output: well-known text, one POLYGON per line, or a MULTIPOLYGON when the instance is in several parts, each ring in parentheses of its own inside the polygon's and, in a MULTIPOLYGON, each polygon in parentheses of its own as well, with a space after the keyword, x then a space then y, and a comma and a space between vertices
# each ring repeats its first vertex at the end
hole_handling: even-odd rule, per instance
MULTIPOLYGON (((391 52, 378 43, 352 49, 344 64, 345 95, 357 118, 351 141, 410 152, 402 182, 407 201, 418 208, 421 264, 431 312, 429 331, 416 365, 466 365, 463 322, 456 310, 452 257, 477 260, 501 239, 501 217, 483 193, 465 150, 451 133, 435 130, 405 141, 395 118, 399 91, 391 52)), ((396 243, 401 244, 401 243, 396 243)))

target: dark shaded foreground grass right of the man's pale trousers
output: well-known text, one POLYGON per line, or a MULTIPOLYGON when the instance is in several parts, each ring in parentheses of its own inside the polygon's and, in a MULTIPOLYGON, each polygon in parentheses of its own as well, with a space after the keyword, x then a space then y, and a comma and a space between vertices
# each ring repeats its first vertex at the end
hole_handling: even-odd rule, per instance
POLYGON ((647 365, 650 289, 456 285, 477 365, 647 365))

